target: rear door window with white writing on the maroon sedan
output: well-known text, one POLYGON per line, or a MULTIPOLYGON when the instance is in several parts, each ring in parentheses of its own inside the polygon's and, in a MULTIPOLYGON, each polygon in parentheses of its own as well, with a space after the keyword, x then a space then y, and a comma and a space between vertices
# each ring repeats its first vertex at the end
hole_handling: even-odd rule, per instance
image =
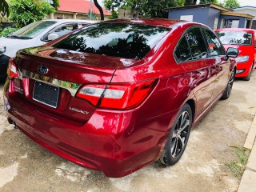
POLYGON ((202 33, 199 28, 188 30, 186 38, 190 45, 190 50, 193 59, 206 58, 207 49, 206 44, 202 38, 202 33))

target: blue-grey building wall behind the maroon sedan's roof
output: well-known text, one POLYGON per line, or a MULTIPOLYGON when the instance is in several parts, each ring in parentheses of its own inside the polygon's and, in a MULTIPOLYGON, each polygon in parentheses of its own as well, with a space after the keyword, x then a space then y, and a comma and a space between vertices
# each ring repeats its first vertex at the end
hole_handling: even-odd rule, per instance
POLYGON ((210 7, 194 8, 187 10, 169 10, 168 18, 180 19, 182 15, 193 15, 193 22, 201 22, 214 29, 215 18, 219 18, 220 10, 210 7))

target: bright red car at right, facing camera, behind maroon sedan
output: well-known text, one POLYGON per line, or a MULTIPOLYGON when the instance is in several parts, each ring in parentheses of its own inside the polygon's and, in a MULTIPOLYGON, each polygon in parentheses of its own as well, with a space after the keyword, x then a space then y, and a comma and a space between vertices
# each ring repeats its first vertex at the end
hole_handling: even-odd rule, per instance
POLYGON ((226 28, 216 32, 226 49, 235 47, 239 50, 236 58, 238 69, 235 76, 249 81, 250 74, 256 67, 256 30, 226 28))

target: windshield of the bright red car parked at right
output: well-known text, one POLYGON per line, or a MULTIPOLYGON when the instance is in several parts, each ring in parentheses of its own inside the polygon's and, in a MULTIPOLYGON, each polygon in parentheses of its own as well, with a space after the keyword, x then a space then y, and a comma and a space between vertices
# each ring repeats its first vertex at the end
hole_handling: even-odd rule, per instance
POLYGON ((224 45, 250 46, 253 34, 245 31, 218 31, 218 37, 224 45))

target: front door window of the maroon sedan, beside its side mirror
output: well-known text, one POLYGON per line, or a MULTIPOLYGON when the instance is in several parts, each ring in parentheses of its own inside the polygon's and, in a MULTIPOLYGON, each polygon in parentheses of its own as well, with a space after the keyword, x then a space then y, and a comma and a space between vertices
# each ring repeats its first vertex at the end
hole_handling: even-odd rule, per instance
POLYGON ((206 40, 210 48, 210 56, 224 55, 222 44, 218 41, 216 35, 210 30, 203 29, 203 31, 206 34, 206 40))

